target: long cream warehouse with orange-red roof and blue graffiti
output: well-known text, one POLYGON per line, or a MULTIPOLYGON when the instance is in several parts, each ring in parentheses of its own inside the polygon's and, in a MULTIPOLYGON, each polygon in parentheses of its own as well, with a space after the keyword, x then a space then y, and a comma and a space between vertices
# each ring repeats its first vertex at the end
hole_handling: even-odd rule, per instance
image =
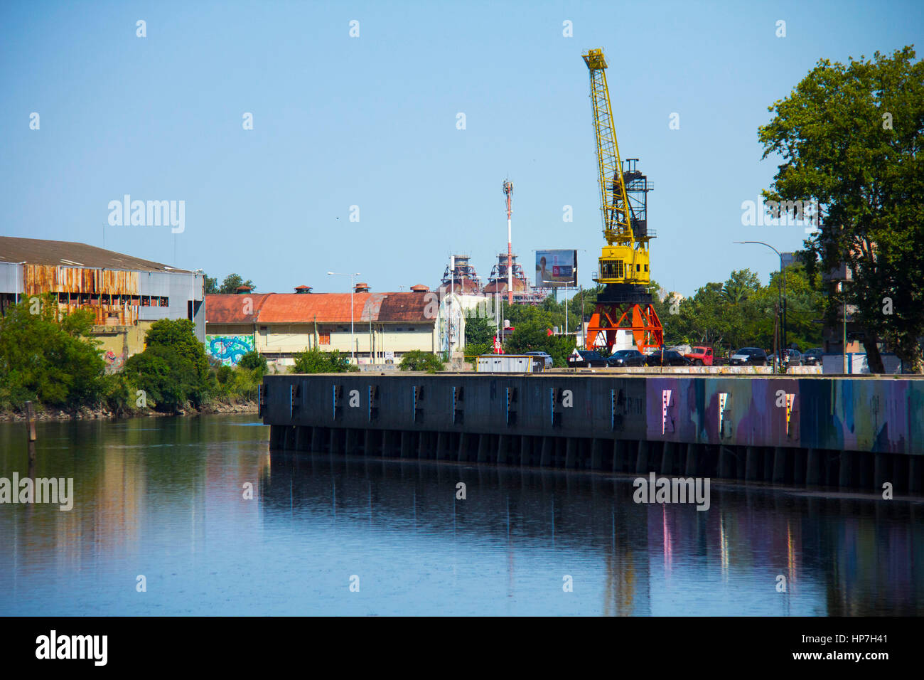
MULTIPOLYGON (((456 314, 449 328, 446 304, 427 286, 410 292, 372 292, 356 284, 350 293, 207 295, 205 349, 225 365, 237 365, 252 350, 276 366, 295 363, 295 355, 317 347, 347 355, 351 343, 359 365, 390 365, 412 350, 450 352, 464 344, 465 319, 456 314), (352 302, 351 302, 352 298, 352 302), (352 319, 352 324, 351 324, 352 319)), ((458 302, 456 302, 456 309, 458 302)))

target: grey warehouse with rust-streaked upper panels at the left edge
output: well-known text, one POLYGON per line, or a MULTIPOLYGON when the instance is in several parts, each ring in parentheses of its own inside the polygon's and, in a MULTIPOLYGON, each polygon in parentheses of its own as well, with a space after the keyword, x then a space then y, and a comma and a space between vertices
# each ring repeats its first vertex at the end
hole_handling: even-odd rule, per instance
POLYGON ((52 293, 62 311, 89 309, 110 366, 144 351, 158 319, 190 319, 205 340, 205 278, 86 243, 0 237, 0 315, 17 301, 52 293))

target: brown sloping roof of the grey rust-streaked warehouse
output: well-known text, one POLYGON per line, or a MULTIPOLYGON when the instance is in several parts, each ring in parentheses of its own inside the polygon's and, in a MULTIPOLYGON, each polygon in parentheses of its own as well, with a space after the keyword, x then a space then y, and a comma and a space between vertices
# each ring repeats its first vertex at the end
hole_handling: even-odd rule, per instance
POLYGON ((124 253, 103 250, 75 241, 48 241, 0 236, 0 262, 26 262, 29 265, 79 266, 87 269, 121 269, 125 271, 166 271, 191 274, 160 262, 142 260, 124 253))

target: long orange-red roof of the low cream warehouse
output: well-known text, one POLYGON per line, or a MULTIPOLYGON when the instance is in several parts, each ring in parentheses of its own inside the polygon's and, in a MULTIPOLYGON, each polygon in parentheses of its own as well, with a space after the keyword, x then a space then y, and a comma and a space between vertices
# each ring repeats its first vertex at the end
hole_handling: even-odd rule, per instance
MULTIPOLYGON (((253 300, 256 323, 349 323, 350 293, 262 293, 261 295, 206 295, 205 315, 210 324, 254 323, 242 313, 241 299, 253 300), (258 302, 258 298, 260 299, 258 302)), ((353 293, 353 320, 359 322, 425 321, 432 297, 419 292, 353 293)))

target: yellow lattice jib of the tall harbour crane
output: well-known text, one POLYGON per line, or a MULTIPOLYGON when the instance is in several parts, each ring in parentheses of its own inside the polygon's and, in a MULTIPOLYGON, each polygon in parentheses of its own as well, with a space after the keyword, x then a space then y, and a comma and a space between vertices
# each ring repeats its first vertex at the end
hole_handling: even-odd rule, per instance
POLYGON ((628 211, 623 162, 616 144, 613 106, 606 85, 606 59, 603 50, 583 55, 590 69, 590 99, 593 101, 593 125, 597 132, 597 162, 600 166, 600 195, 603 213, 603 237, 606 242, 626 244, 634 241, 628 211))

